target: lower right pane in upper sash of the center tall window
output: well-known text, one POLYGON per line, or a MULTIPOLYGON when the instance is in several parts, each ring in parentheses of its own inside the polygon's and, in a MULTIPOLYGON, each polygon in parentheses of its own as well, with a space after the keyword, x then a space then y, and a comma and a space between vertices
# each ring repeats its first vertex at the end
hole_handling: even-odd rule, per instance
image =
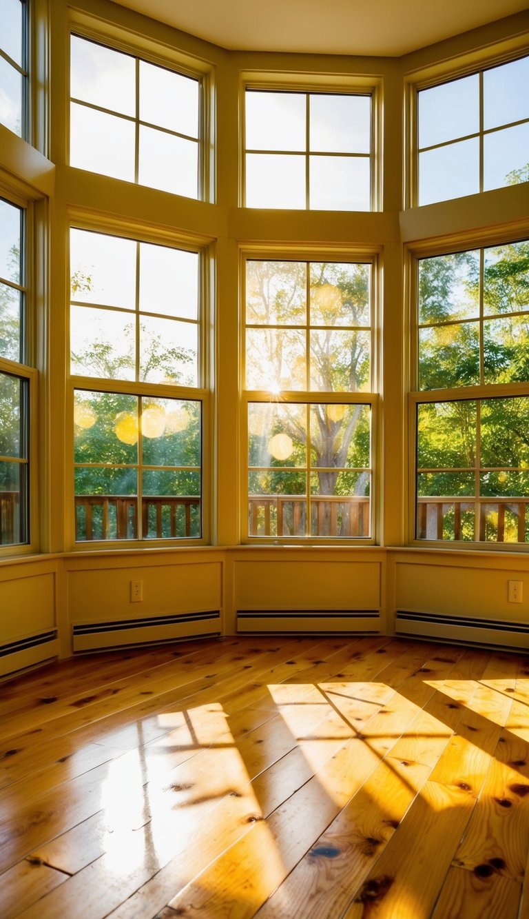
POLYGON ((310 389, 358 391, 369 389, 368 332, 328 329, 310 333, 310 389))

